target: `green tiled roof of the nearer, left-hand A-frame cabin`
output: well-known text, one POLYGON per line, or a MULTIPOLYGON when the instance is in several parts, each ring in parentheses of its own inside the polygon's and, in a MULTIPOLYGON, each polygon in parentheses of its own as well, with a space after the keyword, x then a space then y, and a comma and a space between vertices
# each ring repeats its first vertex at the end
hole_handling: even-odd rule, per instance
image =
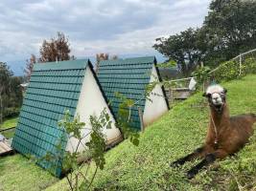
MULTIPOLYGON (((57 154, 56 145, 64 135, 58 120, 65 110, 74 117, 88 64, 87 59, 35 64, 12 141, 15 150, 37 159, 48 152, 57 154)), ((64 150, 66 141, 61 145, 64 150)), ((53 166, 49 161, 38 163, 44 168, 53 166)), ((55 170, 59 176, 61 169, 55 170)))

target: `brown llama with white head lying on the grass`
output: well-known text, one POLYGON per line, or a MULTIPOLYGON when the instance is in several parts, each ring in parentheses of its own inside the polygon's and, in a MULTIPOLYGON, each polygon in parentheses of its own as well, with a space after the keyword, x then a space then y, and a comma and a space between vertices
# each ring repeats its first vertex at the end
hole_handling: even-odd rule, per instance
POLYGON ((171 166, 176 167, 192 159, 202 159, 187 172, 188 179, 194 178, 203 166, 238 152, 253 134, 253 123, 256 122, 256 115, 229 117, 226 93, 226 89, 220 85, 212 85, 207 88, 203 96, 208 98, 210 123, 205 143, 194 153, 177 159, 171 164, 171 166))

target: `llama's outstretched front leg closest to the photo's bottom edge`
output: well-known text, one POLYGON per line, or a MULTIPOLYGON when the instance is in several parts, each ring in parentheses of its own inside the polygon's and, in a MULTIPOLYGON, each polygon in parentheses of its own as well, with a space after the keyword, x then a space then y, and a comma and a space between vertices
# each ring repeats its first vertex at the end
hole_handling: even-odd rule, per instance
POLYGON ((188 171, 188 179, 193 179, 203 166, 207 166, 208 164, 213 163, 216 159, 223 159, 227 155, 227 152, 222 149, 219 149, 214 153, 207 154, 204 159, 202 159, 196 166, 188 171))

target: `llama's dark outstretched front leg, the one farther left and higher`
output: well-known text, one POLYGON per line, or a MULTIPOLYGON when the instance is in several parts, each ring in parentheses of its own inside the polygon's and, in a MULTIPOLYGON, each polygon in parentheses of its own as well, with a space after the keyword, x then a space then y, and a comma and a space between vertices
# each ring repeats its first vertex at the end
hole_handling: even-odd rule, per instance
POLYGON ((186 161, 190 161, 192 159, 201 158, 204 155, 205 150, 206 150, 205 146, 199 147, 193 153, 185 156, 184 158, 180 158, 180 159, 177 159, 174 162, 172 162, 171 166, 172 167, 176 167, 176 166, 179 166, 179 165, 183 165, 186 161))

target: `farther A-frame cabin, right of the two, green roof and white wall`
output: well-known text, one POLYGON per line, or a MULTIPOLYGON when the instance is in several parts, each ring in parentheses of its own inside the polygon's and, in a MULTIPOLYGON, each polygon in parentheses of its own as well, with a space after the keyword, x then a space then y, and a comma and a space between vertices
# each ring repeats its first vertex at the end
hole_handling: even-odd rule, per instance
POLYGON ((130 118, 131 126, 137 130, 148 126, 169 110, 168 100, 160 84, 151 91, 149 99, 145 97, 147 86, 151 82, 161 81, 154 56, 101 61, 97 76, 115 117, 120 104, 115 93, 136 102, 136 106, 131 108, 130 118), (139 115, 138 107, 142 115, 139 115))

